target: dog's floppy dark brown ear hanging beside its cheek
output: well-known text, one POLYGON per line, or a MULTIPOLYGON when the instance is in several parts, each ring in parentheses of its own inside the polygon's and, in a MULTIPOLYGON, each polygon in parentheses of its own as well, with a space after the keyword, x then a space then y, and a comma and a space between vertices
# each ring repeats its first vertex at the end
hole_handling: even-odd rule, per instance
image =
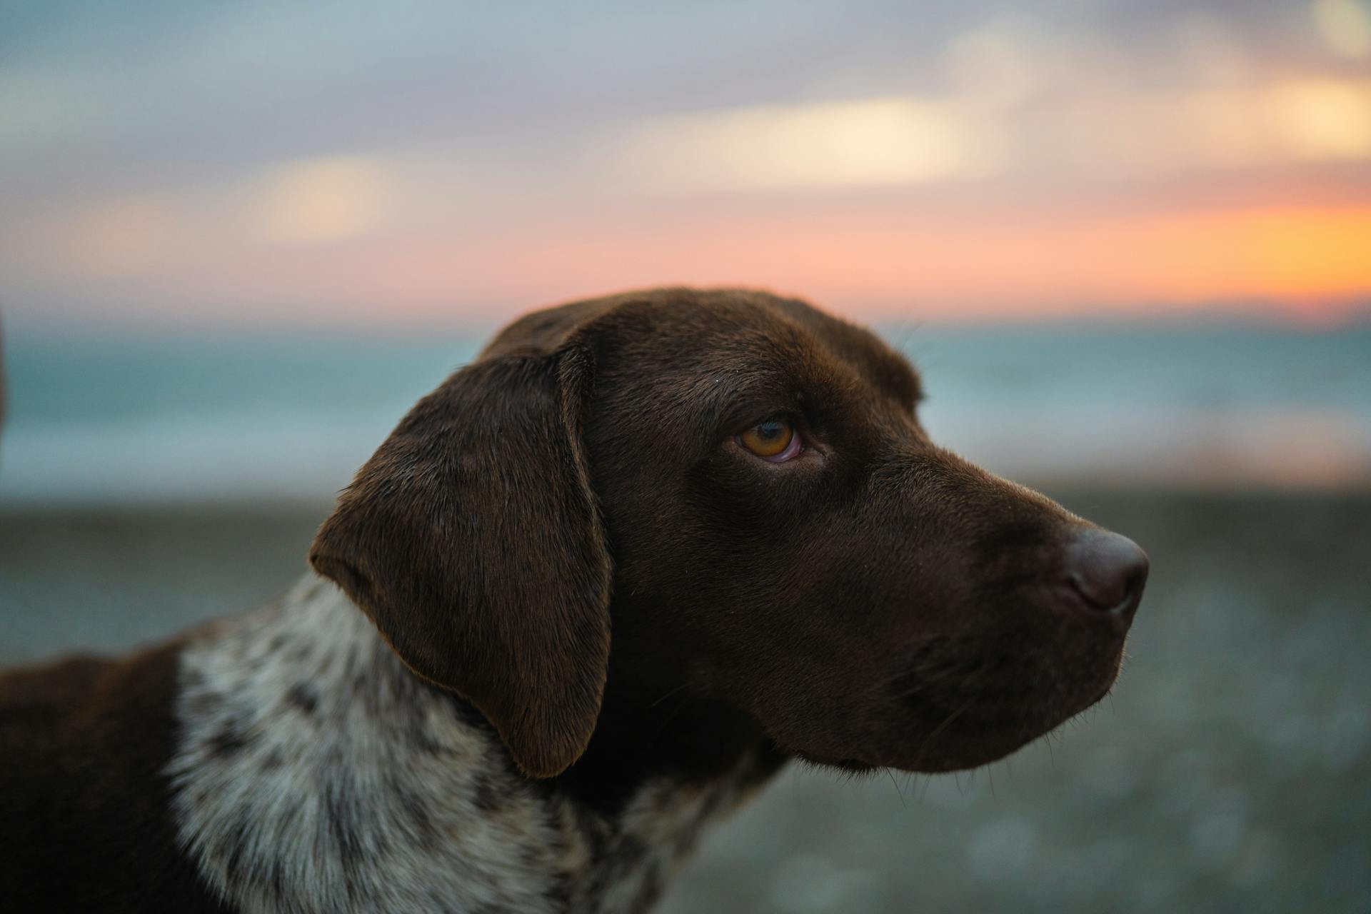
POLYGON ((588 374, 574 348, 457 371, 358 471, 310 549, 406 666, 480 708, 532 777, 585 750, 609 663, 588 374))

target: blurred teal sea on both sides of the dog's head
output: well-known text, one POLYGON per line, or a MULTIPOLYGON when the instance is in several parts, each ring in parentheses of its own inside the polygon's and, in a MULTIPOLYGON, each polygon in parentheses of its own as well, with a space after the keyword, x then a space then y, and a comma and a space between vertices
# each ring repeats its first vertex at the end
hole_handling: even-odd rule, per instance
MULTIPOLYGON (((1371 326, 887 328, 935 440, 1035 482, 1363 488, 1371 326)), ((326 499, 473 333, 10 328, 0 504, 326 499)))

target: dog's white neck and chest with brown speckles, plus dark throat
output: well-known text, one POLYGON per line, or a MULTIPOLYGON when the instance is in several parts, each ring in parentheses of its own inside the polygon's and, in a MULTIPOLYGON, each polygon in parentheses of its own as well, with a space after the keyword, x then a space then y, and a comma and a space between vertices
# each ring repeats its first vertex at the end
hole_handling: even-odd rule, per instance
POLYGON ((781 759, 717 707, 622 685, 611 671, 581 761, 525 778, 484 718, 311 576, 188 647, 180 837, 250 910, 643 910, 781 759))

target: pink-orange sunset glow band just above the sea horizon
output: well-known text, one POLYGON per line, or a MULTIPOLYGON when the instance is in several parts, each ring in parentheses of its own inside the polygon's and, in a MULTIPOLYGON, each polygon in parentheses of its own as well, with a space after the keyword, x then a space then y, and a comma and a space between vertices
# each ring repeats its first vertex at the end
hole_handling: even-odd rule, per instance
POLYGON ((240 249, 155 278, 107 280, 106 289, 165 315, 192 297, 266 321, 282 304, 303 319, 494 321, 569 297, 679 282, 765 286, 857 318, 1180 312, 1264 301, 1293 321, 1324 323, 1371 295, 1368 240, 1371 204, 606 214, 533 229, 515 221, 240 249), (159 300, 165 310, 152 304, 159 300))

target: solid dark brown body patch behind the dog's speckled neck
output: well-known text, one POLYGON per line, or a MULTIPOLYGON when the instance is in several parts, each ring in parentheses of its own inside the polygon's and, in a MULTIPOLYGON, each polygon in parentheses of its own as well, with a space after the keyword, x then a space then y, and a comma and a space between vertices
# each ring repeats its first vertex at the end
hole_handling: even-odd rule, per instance
POLYGON ((23 910, 226 910, 178 850, 163 773, 184 647, 0 676, 0 896, 23 910))

